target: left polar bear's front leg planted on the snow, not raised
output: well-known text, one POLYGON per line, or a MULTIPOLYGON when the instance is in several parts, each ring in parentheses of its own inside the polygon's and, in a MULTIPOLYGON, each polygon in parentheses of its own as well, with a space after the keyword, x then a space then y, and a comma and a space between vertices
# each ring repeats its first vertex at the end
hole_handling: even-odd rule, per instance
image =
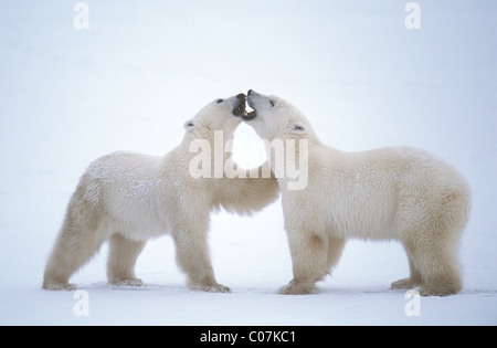
POLYGON ((188 286, 194 291, 229 293, 228 286, 215 281, 209 256, 207 233, 209 218, 197 217, 173 231, 176 257, 180 268, 188 275, 188 286), (194 221, 194 222, 193 222, 194 221))

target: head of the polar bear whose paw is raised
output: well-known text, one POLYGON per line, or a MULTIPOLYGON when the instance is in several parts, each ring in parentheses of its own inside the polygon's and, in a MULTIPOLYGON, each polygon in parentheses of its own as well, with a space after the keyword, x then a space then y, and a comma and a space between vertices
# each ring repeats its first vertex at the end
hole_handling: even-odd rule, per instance
POLYGON ((200 109, 195 117, 184 123, 187 138, 211 139, 214 130, 222 130, 224 139, 233 137, 244 116, 245 95, 243 93, 229 98, 218 98, 200 109), (233 117, 237 116, 237 117, 233 117))

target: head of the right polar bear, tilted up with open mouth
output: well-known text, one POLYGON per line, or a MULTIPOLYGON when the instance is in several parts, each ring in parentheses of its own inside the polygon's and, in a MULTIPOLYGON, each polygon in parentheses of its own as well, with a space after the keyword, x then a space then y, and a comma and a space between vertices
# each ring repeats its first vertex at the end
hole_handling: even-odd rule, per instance
POLYGON ((276 96, 260 94, 253 89, 247 93, 247 102, 253 112, 241 114, 241 117, 254 128, 261 138, 271 141, 275 138, 314 137, 307 118, 288 102, 276 96))

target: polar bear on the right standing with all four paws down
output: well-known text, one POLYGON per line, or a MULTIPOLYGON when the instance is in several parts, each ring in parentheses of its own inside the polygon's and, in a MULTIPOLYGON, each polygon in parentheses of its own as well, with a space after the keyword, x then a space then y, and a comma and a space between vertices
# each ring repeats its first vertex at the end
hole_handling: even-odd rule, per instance
POLYGON ((402 243, 411 274, 394 282, 394 289, 420 287, 426 296, 461 291, 458 243, 470 192, 456 169, 408 147, 345 152, 324 145, 289 103, 254 91, 247 102, 254 110, 243 119, 267 139, 273 170, 277 172, 271 145, 298 140, 294 161, 308 175, 303 189, 288 186, 295 179, 286 172, 288 164, 283 176, 276 175, 294 273, 282 293, 316 292, 315 283, 337 265, 352 238, 402 243))

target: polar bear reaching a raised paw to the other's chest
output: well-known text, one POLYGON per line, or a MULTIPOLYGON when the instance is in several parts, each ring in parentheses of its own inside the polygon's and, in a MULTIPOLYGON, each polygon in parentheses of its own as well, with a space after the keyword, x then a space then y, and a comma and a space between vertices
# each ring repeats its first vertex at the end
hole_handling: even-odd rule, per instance
MULTIPOLYGON (((115 152, 91 164, 68 203, 43 288, 74 289, 68 283, 71 275, 105 241, 109 241, 108 283, 142 285, 134 270, 139 253, 147 240, 170 233, 189 287, 229 292, 218 284, 209 259, 209 212, 222 207, 251 214, 278 198, 278 184, 274 177, 193 178, 190 161, 197 155, 191 144, 204 139, 214 146, 215 131, 222 131, 224 143, 230 141, 241 124, 241 118, 232 115, 243 113, 244 94, 215 99, 184 124, 182 143, 166 156, 115 152)), ((229 156, 225 152, 223 159, 230 160, 229 156)))

